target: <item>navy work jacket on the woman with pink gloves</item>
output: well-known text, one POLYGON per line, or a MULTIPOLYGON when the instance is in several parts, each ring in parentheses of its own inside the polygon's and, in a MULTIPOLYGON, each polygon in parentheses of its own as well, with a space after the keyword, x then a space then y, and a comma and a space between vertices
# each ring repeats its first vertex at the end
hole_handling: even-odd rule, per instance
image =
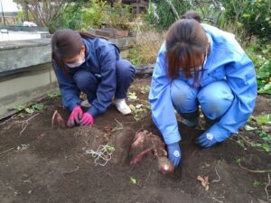
POLYGON ((69 108, 70 111, 75 106, 80 105, 80 90, 72 76, 79 69, 85 69, 98 78, 100 82, 97 89, 97 98, 91 103, 88 110, 91 115, 97 117, 107 110, 107 106, 111 104, 116 92, 116 61, 119 59, 119 49, 115 44, 100 38, 82 38, 82 40, 86 47, 85 62, 82 65, 77 68, 65 66, 69 73, 68 76, 56 64, 54 64, 54 67, 61 89, 63 106, 69 108))

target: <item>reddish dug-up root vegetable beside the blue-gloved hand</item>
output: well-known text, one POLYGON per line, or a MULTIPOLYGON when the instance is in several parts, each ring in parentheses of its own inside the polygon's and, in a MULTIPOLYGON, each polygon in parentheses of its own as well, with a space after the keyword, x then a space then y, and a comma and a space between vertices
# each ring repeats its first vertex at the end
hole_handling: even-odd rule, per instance
POLYGON ((146 154, 152 154, 158 161, 159 171, 164 174, 174 171, 173 163, 167 158, 165 145, 160 137, 146 130, 135 134, 130 152, 132 156, 131 164, 142 161, 146 154))

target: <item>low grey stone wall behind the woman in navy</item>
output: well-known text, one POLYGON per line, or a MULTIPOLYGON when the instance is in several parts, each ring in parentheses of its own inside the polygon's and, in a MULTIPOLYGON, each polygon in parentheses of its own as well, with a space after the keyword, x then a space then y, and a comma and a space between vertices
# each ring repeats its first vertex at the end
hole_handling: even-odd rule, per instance
MULTIPOLYGON (((122 57, 135 38, 109 39, 122 57)), ((51 39, 0 42, 0 119, 14 114, 14 106, 30 104, 57 89, 51 67, 51 39)))

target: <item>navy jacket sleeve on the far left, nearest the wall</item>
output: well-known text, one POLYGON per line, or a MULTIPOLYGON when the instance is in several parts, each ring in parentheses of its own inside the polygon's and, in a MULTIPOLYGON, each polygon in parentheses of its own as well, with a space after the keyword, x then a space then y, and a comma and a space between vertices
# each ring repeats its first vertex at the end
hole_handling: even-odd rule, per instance
POLYGON ((61 89, 63 106, 72 111, 75 106, 80 105, 79 88, 77 88, 73 79, 68 78, 56 64, 54 64, 54 69, 61 89))

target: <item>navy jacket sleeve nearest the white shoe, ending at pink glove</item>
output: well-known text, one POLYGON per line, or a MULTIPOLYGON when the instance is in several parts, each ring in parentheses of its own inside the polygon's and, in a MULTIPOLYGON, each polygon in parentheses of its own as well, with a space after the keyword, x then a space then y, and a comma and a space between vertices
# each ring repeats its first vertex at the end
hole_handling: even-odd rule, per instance
POLYGON ((97 98, 91 103, 88 112, 97 117, 104 113, 112 103, 117 86, 116 76, 116 51, 115 47, 108 51, 101 51, 99 56, 101 67, 101 82, 97 89, 97 98))

